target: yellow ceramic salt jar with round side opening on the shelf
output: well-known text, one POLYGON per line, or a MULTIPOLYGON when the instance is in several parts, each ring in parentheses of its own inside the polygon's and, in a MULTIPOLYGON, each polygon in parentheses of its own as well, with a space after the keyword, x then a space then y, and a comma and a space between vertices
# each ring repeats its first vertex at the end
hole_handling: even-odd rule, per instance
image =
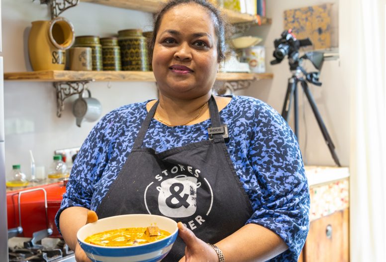
POLYGON ((28 37, 32 69, 64 70, 65 50, 71 47, 74 40, 74 26, 64 17, 33 21, 28 37))

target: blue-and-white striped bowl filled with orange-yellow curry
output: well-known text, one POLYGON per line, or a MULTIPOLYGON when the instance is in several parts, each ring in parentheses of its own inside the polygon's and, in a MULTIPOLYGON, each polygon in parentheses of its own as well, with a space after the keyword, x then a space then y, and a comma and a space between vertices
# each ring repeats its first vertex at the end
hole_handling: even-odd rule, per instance
POLYGON ((170 218, 131 214, 87 224, 77 238, 95 262, 156 262, 166 257, 177 235, 177 223, 170 218))

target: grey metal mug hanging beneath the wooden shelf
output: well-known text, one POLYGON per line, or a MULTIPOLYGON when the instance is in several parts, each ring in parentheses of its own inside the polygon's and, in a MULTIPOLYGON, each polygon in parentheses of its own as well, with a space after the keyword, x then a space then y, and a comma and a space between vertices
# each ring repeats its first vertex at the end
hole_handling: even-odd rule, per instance
POLYGON ((76 117, 76 124, 81 127, 83 121, 97 121, 102 113, 102 105, 100 102, 91 97, 90 90, 87 90, 89 97, 83 98, 83 92, 79 94, 79 98, 74 101, 73 114, 76 117))

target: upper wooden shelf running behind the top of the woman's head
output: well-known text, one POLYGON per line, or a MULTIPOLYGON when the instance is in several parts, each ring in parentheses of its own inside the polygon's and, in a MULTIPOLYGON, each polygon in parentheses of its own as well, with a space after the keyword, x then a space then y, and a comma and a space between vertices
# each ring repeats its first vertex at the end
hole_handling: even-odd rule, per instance
MULTIPOLYGON (((166 0, 82 0, 83 2, 92 2, 119 8, 133 9, 145 12, 157 12, 166 0)), ((239 13, 236 11, 223 9, 224 14, 230 23, 257 22, 254 15, 239 13)), ((265 17, 261 18, 261 24, 270 23, 271 20, 265 17)))

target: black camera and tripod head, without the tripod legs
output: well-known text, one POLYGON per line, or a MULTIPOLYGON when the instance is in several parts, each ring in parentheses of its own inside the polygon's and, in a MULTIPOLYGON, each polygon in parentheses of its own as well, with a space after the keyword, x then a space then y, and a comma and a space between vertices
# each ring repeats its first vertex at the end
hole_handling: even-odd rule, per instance
POLYGON ((319 82, 319 71, 322 68, 324 56, 322 52, 306 52, 303 56, 299 55, 299 48, 303 46, 312 45, 309 38, 298 40, 293 34, 292 29, 284 31, 281 34, 281 38, 275 39, 274 41, 275 60, 271 61, 271 65, 279 64, 288 55, 288 62, 290 64, 291 71, 301 71, 305 75, 305 79, 316 86, 321 86, 319 82), (304 59, 308 59, 312 62, 312 65, 319 70, 318 72, 307 73, 301 66, 304 59))

